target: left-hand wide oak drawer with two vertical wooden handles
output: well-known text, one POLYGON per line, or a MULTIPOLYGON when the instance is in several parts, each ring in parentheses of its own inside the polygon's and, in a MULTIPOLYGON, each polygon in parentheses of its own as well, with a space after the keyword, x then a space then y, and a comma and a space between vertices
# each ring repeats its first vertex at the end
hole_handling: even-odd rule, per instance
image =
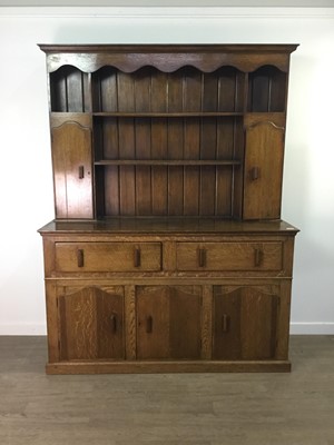
POLYGON ((160 243, 57 243, 58 271, 157 271, 160 243))

